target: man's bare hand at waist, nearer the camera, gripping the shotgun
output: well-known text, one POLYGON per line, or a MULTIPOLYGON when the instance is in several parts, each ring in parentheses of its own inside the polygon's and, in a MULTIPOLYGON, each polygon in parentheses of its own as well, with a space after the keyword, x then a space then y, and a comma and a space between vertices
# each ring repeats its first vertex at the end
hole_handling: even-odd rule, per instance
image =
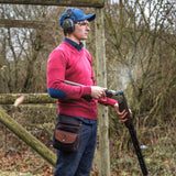
POLYGON ((95 99, 100 99, 106 97, 105 92, 106 88, 99 87, 99 86, 91 86, 91 97, 95 99))

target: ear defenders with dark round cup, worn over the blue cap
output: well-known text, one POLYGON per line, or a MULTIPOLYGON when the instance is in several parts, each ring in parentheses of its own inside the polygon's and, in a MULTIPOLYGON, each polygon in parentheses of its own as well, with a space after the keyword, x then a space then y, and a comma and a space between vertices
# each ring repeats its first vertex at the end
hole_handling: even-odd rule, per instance
POLYGON ((64 22, 63 22, 64 33, 69 33, 70 34, 75 30, 75 23, 70 19, 72 13, 73 13, 73 9, 72 8, 67 9, 66 14, 64 16, 64 22))

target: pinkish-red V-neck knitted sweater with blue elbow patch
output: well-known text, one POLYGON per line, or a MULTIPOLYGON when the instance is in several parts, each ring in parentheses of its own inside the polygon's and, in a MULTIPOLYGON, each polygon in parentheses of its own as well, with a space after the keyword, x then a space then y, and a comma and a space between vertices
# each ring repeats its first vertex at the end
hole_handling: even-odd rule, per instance
MULTIPOLYGON (((69 42, 69 40, 67 40, 69 42)), ((58 113, 97 120, 98 101, 105 106, 113 106, 117 101, 110 98, 87 101, 91 86, 96 86, 90 53, 81 47, 77 50, 63 41, 48 56, 47 91, 52 98, 58 99, 58 113), (85 86, 70 86, 69 80, 85 86)))

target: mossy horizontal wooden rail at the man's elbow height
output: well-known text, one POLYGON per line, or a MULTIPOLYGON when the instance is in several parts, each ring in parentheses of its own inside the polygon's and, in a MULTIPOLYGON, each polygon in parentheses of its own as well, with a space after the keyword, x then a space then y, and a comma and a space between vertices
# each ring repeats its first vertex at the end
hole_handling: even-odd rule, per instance
POLYGON ((55 103, 57 101, 48 97, 48 94, 0 94, 0 105, 13 105, 20 96, 24 96, 23 103, 55 103))

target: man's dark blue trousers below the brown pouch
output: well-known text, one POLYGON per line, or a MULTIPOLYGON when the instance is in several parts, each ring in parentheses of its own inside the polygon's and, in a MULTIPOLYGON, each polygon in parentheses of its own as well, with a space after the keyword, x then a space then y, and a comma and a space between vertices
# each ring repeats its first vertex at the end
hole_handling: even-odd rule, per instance
POLYGON ((77 152, 57 150, 54 176, 89 176, 97 142, 97 121, 82 123, 81 144, 77 152))

